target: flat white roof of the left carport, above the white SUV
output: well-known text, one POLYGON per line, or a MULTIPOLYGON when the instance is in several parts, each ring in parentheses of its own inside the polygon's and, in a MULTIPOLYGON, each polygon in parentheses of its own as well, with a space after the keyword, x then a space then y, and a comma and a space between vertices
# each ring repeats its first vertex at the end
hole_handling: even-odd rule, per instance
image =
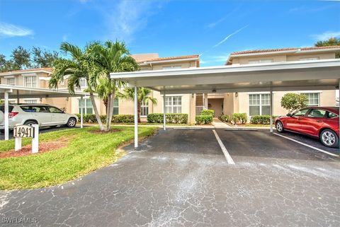
POLYGON ((24 86, 11 86, 0 84, 0 98, 4 98, 5 91, 8 98, 58 98, 58 97, 81 97, 89 95, 82 91, 70 94, 67 90, 52 90, 49 88, 29 88, 24 86))

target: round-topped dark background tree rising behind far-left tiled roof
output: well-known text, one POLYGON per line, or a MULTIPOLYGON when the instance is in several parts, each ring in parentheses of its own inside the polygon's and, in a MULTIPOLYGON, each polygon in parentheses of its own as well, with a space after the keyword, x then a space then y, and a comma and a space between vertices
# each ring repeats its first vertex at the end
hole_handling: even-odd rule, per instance
POLYGON ((11 70, 30 69, 30 51, 18 46, 12 51, 11 61, 13 67, 11 70))

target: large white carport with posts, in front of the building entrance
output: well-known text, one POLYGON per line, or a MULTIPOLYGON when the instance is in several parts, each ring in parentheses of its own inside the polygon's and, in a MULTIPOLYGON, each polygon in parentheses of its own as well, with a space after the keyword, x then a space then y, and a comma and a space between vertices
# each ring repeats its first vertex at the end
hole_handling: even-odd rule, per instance
MULTIPOLYGON (((135 71, 112 73, 111 78, 123 80, 135 87, 135 148, 137 148, 137 87, 147 87, 164 95, 164 130, 165 95, 179 93, 269 91, 272 123, 273 91, 339 89, 340 59, 135 71)), ((273 132, 272 124, 270 130, 273 132)))

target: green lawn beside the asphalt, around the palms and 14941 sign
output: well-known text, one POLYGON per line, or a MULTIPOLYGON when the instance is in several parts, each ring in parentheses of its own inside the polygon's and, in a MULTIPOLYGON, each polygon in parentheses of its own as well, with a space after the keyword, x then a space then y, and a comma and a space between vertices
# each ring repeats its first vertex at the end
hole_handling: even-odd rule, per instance
MULTIPOLYGON (((40 134, 40 141, 55 141, 72 136, 68 146, 30 156, 0 159, 0 189, 14 190, 57 185, 86 175, 118 160, 123 153, 116 152, 122 144, 133 139, 133 127, 113 127, 120 132, 93 134, 84 129, 65 129, 40 134)), ((149 136, 156 127, 140 127, 139 136, 149 136)), ((30 139, 23 139, 23 146, 30 139)), ((0 141, 0 152, 14 148, 13 139, 0 141)))

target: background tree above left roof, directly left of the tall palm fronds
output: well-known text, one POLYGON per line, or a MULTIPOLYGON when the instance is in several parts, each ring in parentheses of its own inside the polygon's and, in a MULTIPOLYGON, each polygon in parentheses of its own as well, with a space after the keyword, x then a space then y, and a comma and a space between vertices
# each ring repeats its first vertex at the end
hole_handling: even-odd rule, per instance
POLYGON ((58 52, 41 50, 40 47, 33 47, 33 64, 36 68, 52 67, 55 59, 58 58, 58 52))

